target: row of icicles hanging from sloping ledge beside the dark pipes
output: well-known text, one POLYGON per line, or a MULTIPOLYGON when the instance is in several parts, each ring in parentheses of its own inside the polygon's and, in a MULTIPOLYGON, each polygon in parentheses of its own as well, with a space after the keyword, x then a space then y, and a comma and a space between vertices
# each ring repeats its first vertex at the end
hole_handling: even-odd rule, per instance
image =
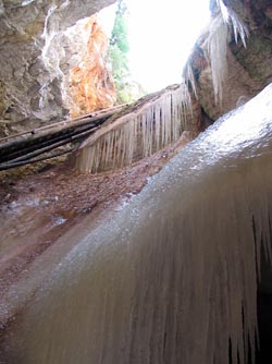
POLYGON ((90 136, 82 145, 77 168, 96 173, 148 157, 178 139, 186 114, 190 112, 190 96, 185 84, 166 90, 152 102, 147 101, 139 110, 114 120, 108 129, 90 136))

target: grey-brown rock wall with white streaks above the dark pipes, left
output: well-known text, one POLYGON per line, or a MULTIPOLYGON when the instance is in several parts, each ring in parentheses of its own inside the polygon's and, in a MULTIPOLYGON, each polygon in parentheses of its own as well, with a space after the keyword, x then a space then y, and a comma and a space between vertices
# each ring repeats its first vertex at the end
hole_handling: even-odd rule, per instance
POLYGON ((65 32, 113 2, 0 0, 2 135, 60 119, 67 112, 63 108, 62 76, 76 60, 65 32))

